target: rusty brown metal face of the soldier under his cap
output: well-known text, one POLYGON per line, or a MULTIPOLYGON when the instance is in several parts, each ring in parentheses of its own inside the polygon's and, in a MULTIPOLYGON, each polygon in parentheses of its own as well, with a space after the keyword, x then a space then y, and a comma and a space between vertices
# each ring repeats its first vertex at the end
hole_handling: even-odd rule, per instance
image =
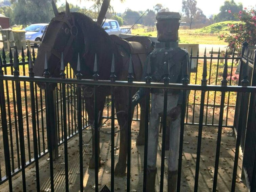
POLYGON ((179 20, 178 19, 161 19, 156 23, 157 40, 159 42, 177 41, 179 20))

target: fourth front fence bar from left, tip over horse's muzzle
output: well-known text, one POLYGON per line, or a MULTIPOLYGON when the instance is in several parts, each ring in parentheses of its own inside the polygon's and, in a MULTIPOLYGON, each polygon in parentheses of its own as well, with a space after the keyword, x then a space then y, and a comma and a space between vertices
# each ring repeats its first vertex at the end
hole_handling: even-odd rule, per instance
MULTIPOLYGON (((44 63, 44 77, 49 78, 50 72, 48 71, 48 61, 45 53, 45 63, 44 63)), ((51 102, 50 102, 50 85, 49 83, 45 83, 45 97, 46 97, 46 132, 47 132, 47 142, 48 142, 48 150, 49 150, 49 163, 50 163, 50 183, 51 183, 51 192, 54 192, 54 167, 53 167, 53 158, 52 158, 52 137, 51 137, 51 131, 54 129, 51 124, 51 112, 50 108, 51 102)))

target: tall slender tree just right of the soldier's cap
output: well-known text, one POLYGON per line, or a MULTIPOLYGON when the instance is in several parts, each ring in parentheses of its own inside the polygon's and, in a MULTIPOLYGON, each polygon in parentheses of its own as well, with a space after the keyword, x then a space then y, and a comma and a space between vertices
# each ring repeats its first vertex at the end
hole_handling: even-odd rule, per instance
POLYGON ((190 29, 193 23, 193 20, 196 16, 196 0, 182 0, 182 11, 185 14, 185 20, 189 23, 190 29))

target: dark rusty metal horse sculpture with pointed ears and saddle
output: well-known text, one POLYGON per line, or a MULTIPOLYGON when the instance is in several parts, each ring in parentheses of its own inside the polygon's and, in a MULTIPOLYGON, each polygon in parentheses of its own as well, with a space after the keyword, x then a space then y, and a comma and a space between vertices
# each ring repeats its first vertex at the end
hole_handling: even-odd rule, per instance
MULTIPOLYGON (((78 53, 81 57, 81 73, 83 79, 92 79, 93 64, 95 54, 98 60, 99 79, 109 80, 112 55, 116 63, 115 74, 116 80, 127 80, 128 64, 130 55, 132 55, 134 81, 140 81, 143 71, 144 62, 147 54, 151 49, 151 41, 148 38, 132 37, 122 40, 117 36, 109 36, 105 30, 94 22, 92 19, 81 13, 70 13, 69 5, 66 3, 66 12, 58 13, 56 5, 52 3, 55 17, 48 25, 44 35, 42 45, 38 50, 37 59, 35 61, 35 76, 43 76, 45 53, 47 53, 48 71, 51 77, 60 77, 60 59, 63 52, 64 63, 70 63, 72 69, 76 71, 78 53), (137 41, 137 42, 136 42, 137 41), (139 42, 138 42, 139 41, 139 42)), ((44 85, 39 85, 44 88, 44 85)), ((54 88, 55 85, 52 85, 54 88)), ((92 125, 94 122, 94 99, 93 95, 88 95, 92 89, 84 87, 85 105, 88 112, 88 121, 92 125)), ((100 118, 104 110, 105 98, 110 95, 108 87, 100 87, 98 94, 98 111, 100 118)), ((132 90, 132 94, 136 89, 132 90)), ((115 175, 123 176, 126 172, 127 159, 127 123, 128 123, 128 88, 115 87, 115 109, 125 111, 117 113, 118 123, 120 125, 120 153, 119 161, 115 167, 115 175)), ((145 118, 144 106, 141 105, 141 119, 145 118)), ((134 109, 132 109, 132 112, 134 109)), ((100 125, 99 125, 100 126, 100 125)), ((137 144, 144 144, 145 122, 140 123, 140 132, 137 137, 137 144)), ((92 129, 94 134, 94 129, 92 129)), ((98 134, 99 135, 99 134, 98 134)), ((93 137, 94 138, 94 137, 93 137)), ((92 156, 90 158, 89 167, 95 167, 95 148, 94 139, 92 141, 92 156)), ((99 147, 99 143, 98 149, 99 147)), ((99 157, 99 154, 98 154, 99 157)), ((100 163, 100 157, 99 163, 100 163)))

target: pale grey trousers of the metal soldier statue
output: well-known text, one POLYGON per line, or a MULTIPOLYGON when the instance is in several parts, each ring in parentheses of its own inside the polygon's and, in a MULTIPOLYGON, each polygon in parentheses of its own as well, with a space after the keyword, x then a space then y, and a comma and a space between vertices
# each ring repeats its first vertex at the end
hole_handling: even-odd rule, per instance
MULTIPOLYGON (((178 94, 168 94, 167 111, 177 106, 178 94)), ((156 168, 156 157, 158 148, 159 134, 159 113, 164 110, 164 94, 151 94, 151 113, 149 120, 148 132, 148 166, 150 170, 156 168)), ((168 118, 167 118, 168 119, 168 118)), ((174 122, 167 122, 166 129, 170 129, 170 149, 168 158, 168 171, 176 171, 178 169, 179 154, 179 135, 180 135, 180 115, 174 122)), ((159 145, 161 147, 161 145, 159 145)), ((161 155, 161 152, 160 152, 161 155)))

